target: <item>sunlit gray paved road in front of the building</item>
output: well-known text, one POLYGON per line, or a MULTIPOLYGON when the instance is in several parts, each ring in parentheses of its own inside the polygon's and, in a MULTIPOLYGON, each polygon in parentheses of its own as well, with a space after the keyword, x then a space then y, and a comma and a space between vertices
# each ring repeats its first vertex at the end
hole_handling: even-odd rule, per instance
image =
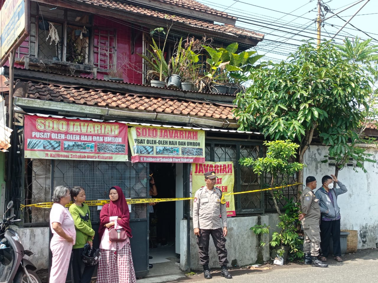
MULTIPOLYGON (((191 278, 146 278, 146 282, 181 282, 181 283, 378 283, 378 249, 361 250, 347 254, 341 263, 328 258, 329 267, 311 267, 304 264, 290 263, 266 270, 234 269, 233 278, 225 279, 219 271, 212 272, 212 279, 204 279, 203 274, 191 278), (156 281, 155 281, 156 280, 156 281)), ((139 280, 138 280, 139 281, 139 280)), ((137 282, 138 282, 137 281, 137 282)))

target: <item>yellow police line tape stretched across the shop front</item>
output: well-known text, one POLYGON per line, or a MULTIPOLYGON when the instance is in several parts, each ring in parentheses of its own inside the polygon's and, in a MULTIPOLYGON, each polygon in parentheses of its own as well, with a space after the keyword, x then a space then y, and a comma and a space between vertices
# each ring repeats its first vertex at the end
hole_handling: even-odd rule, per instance
MULTIPOLYGON (((302 183, 294 183, 291 185, 286 186, 280 186, 280 187, 274 187, 274 188, 266 188, 266 189, 260 189, 260 190, 253 190, 253 191, 240 191, 240 192, 230 192, 222 195, 221 203, 225 204, 226 201, 224 199, 224 196, 230 195, 230 194, 246 194, 246 193, 256 193, 258 191, 268 191, 268 190, 275 190, 280 188, 286 188, 291 186, 300 185, 302 183)), ((194 197, 176 197, 176 198, 164 198, 164 199, 126 199, 127 204, 145 204, 150 202, 166 202, 166 201, 185 201, 187 199, 194 199, 194 197)), ((88 206, 95 206, 95 205, 104 205, 108 204, 110 200, 104 199, 104 200, 97 200, 97 201, 85 201, 84 203, 88 206)), ((66 205, 66 207, 70 207, 70 205, 73 204, 73 202, 70 202, 66 205)), ((28 204, 28 205, 20 205, 20 208, 23 209, 24 207, 40 207, 40 208, 50 208, 53 205, 52 202, 40 202, 39 204, 28 204)))

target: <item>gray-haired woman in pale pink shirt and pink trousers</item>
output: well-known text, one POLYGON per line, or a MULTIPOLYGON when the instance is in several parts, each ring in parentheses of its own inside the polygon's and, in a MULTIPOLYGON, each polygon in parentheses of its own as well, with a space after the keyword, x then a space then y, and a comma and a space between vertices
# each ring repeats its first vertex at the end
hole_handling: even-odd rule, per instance
POLYGON ((50 249, 53 253, 51 263, 50 283, 62 283, 66 281, 72 246, 75 244, 75 225, 68 208, 70 203, 70 190, 64 186, 54 188, 53 206, 50 210, 50 228, 53 233, 50 249))

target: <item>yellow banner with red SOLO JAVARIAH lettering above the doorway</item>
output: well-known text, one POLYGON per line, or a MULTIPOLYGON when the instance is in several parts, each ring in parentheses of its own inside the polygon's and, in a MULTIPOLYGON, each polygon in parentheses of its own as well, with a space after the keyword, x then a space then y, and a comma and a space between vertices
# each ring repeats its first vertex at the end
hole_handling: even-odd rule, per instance
POLYGON ((205 161, 205 132, 152 126, 129 128, 132 162, 205 161))

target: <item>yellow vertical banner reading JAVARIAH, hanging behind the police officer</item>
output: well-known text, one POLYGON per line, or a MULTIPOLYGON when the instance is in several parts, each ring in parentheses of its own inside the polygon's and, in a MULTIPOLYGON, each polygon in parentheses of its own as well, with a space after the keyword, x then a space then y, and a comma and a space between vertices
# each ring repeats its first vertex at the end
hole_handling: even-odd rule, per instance
POLYGON ((228 194, 234 190, 234 163, 233 162, 203 162, 192 163, 191 179, 192 179, 192 196, 195 192, 204 187, 204 173, 215 171, 218 176, 215 187, 219 188, 225 196, 227 216, 236 216, 234 195, 228 194))

